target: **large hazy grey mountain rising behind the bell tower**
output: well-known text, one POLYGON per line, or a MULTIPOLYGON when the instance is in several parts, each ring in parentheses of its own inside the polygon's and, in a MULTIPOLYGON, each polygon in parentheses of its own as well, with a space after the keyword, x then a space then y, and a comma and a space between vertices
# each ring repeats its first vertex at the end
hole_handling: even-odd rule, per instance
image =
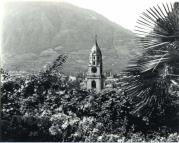
POLYGON ((131 31, 63 2, 7 2, 2 30, 2 63, 7 70, 38 71, 67 54, 65 73, 86 71, 95 34, 106 71, 120 72, 140 53, 131 31))

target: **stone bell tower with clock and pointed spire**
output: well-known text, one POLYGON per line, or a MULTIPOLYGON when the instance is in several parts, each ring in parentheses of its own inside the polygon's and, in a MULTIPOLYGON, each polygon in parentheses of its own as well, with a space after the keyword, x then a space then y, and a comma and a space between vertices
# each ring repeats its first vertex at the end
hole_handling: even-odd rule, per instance
POLYGON ((96 92, 100 92, 103 89, 102 54, 98 46, 97 36, 95 36, 95 43, 89 56, 87 89, 93 89, 96 90, 96 92))

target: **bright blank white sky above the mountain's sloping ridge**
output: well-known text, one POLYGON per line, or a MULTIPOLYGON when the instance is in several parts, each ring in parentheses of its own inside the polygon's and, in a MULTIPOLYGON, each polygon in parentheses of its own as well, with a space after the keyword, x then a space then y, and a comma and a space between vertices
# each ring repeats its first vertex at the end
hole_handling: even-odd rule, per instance
POLYGON ((109 20, 134 30, 136 20, 146 9, 162 3, 173 3, 179 0, 63 0, 74 5, 94 10, 109 20))

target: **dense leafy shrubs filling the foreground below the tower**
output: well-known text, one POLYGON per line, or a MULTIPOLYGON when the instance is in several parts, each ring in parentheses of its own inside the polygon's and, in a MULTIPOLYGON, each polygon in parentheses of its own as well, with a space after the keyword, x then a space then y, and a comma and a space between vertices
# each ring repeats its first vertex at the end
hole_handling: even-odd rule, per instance
POLYGON ((3 141, 179 140, 167 124, 130 114, 132 106, 120 89, 85 91, 55 72, 3 76, 3 141))

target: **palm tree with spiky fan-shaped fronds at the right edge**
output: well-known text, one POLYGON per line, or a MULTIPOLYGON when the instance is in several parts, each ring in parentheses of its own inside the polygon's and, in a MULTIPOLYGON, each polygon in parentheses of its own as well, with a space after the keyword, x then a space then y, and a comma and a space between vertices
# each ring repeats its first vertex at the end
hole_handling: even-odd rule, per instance
POLYGON ((143 53, 125 70, 123 88, 132 114, 165 120, 175 108, 170 87, 179 76, 179 3, 150 8, 137 23, 136 40, 143 53))

